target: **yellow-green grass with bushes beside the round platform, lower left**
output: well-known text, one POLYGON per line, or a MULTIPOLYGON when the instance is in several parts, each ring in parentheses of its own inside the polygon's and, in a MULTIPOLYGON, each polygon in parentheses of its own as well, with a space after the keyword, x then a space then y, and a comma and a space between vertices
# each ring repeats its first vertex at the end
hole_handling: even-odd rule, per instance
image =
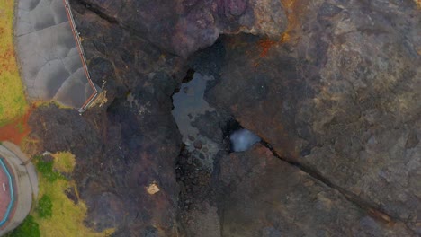
POLYGON ((109 229, 96 233, 85 226, 87 207, 78 198, 75 180, 61 174, 73 172, 75 155, 58 153, 51 154, 50 157, 35 156, 32 161, 38 171, 40 198, 31 215, 39 224, 40 236, 103 237, 114 232, 109 229), (67 198, 65 191, 69 189, 76 193, 77 202, 67 198))

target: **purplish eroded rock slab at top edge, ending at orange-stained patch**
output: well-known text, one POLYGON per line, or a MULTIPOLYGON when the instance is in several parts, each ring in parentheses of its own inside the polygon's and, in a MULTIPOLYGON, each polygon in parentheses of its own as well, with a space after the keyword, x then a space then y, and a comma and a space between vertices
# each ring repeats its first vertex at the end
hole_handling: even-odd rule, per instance
POLYGON ((249 32, 279 38, 286 16, 278 0, 81 0, 111 22, 177 55, 212 45, 220 33, 249 32))

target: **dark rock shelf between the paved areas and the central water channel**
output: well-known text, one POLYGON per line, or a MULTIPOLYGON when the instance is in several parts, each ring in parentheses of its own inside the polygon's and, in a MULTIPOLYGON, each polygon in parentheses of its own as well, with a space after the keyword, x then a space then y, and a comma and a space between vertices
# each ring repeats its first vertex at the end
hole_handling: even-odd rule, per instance
POLYGON ((184 60, 92 8, 76 1, 72 6, 90 73, 103 86, 103 107, 82 116, 55 106, 34 111, 31 136, 40 140, 38 152, 76 155, 73 177, 90 227, 116 228, 116 236, 176 236, 181 136, 171 95, 185 74, 184 60), (150 194, 150 185, 159 191, 150 194))

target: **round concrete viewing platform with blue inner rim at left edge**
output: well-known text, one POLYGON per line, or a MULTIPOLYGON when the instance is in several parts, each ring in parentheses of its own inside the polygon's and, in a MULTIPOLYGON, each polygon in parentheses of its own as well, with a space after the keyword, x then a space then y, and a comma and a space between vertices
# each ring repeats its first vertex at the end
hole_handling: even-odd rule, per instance
POLYGON ((28 161, 16 145, 0 145, 0 236, 22 223, 38 197, 37 172, 28 161))

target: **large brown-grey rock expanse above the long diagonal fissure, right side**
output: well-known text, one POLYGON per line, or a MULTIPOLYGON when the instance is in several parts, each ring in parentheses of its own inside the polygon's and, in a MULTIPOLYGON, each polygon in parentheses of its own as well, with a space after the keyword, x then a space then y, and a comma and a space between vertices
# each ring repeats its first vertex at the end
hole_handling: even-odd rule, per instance
POLYGON ((292 5, 283 41, 224 37, 208 101, 282 159, 421 234, 419 10, 411 1, 307 5, 292 5))

